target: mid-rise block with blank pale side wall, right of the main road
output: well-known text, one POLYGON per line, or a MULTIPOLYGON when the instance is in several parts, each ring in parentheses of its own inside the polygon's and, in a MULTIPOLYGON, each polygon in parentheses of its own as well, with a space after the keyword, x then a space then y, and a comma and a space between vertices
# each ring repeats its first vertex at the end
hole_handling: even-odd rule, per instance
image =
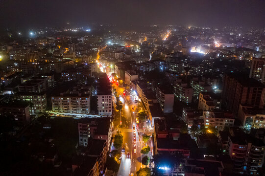
POLYGON ((156 98, 157 98, 157 102, 159 103, 164 113, 173 112, 174 94, 169 88, 157 86, 156 98))

